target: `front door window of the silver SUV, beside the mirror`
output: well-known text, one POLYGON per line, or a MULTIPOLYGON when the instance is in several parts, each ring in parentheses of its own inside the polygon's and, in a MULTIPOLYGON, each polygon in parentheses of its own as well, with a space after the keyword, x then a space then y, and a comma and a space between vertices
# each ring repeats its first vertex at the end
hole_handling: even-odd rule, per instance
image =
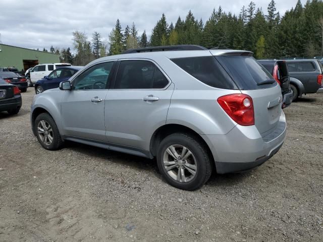
POLYGON ((73 81, 73 89, 105 89, 114 62, 105 62, 90 67, 73 81))

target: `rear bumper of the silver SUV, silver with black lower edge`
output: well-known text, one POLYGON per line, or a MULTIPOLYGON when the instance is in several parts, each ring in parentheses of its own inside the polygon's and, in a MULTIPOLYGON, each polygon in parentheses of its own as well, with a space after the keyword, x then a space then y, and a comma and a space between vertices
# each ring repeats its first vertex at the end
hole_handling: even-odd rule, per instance
POLYGON ((261 165, 282 147, 286 120, 282 111, 276 129, 261 137, 255 126, 237 125, 226 135, 201 135, 211 149, 218 173, 240 172, 261 165))

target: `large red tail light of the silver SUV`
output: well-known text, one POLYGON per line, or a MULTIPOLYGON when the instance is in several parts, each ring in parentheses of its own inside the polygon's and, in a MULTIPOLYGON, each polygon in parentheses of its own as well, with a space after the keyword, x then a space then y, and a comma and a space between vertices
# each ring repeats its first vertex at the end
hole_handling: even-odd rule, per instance
POLYGON ((252 98, 246 94, 229 94, 218 98, 225 112, 239 125, 254 125, 252 98))

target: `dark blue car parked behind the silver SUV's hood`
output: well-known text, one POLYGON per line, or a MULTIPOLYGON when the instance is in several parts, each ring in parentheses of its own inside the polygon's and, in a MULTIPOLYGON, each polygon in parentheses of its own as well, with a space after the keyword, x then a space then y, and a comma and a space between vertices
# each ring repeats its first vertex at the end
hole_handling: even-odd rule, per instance
POLYGON ((35 84, 36 94, 47 89, 58 88, 61 82, 67 81, 83 67, 62 67, 52 71, 48 76, 38 80, 35 84))

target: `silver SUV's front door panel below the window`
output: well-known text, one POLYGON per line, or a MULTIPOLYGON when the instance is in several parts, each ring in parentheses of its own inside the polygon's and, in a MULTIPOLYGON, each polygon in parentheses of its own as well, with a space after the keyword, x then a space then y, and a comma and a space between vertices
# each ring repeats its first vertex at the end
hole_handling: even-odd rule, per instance
POLYGON ((61 104, 65 135, 105 141, 104 100, 107 90, 65 91, 61 104), (91 101, 91 99, 102 101, 91 101))

